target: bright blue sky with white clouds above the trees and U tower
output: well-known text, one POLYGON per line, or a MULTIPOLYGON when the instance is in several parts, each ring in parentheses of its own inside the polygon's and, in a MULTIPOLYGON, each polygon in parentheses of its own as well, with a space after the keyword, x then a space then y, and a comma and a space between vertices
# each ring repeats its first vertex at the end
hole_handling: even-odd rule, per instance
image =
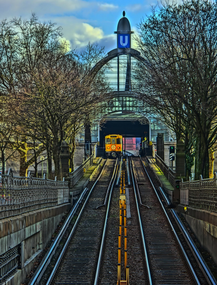
POLYGON ((63 28, 63 37, 77 50, 98 42, 106 51, 117 47, 117 23, 125 10, 131 31, 150 14, 157 0, 0 0, 0 21, 14 17, 29 19, 35 13, 40 21, 55 22, 63 28))

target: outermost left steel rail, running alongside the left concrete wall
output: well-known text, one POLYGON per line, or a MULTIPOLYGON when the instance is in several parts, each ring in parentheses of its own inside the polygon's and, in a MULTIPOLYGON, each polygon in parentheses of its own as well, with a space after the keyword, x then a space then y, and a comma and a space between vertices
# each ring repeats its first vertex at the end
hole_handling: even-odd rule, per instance
POLYGON ((65 231, 67 230, 79 204, 81 203, 81 200, 83 199, 85 193, 87 192, 88 188, 85 188, 83 190, 83 192, 81 193, 78 201, 76 202, 76 204, 73 206, 71 212, 68 215, 68 218, 65 220, 65 222, 63 223, 62 229, 60 230, 60 232, 58 233, 58 235, 56 236, 50 250, 47 252, 47 254, 45 255, 44 259, 42 260, 41 264, 39 265, 37 271, 35 272, 34 276, 32 277, 32 279, 30 280, 29 285, 37 285, 41 279, 41 277, 43 276, 44 271, 46 270, 47 266, 49 265, 52 256, 55 254, 55 251, 57 249, 57 247, 59 246, 59 242, 61 241, 63 235, 65 234, 65 231))

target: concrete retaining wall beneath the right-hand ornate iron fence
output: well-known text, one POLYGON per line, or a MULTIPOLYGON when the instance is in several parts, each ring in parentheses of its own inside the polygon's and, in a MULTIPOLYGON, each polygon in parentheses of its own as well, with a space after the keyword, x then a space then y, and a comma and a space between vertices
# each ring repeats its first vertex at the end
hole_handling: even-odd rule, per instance
POLYGON ((182 213, 200 245, 210 253, 217 264, 217 213, 189 206, 185 211, 184 205, 178 205, 178 210, 182 213))

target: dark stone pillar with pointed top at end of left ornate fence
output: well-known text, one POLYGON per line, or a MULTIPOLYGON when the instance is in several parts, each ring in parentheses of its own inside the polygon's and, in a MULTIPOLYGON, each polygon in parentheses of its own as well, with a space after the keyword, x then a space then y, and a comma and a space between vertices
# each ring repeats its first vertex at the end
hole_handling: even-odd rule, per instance
POLYGON ((62 141, 61 144, 61 150, 59 154, 59 160, 60 160, 60 174, 62 174, 62 177, 68 178, 69 177, 69 148, 68 144, 65 140, 62 141))

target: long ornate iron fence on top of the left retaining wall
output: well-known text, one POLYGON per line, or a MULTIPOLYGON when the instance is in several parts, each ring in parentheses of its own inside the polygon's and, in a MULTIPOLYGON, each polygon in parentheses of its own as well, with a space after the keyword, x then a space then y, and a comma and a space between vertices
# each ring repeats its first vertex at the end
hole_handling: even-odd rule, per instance
POLYGON ((28 177, 14 177, 12 169, 0 176, 0 219, 69 201, 68 182, 28 177))

